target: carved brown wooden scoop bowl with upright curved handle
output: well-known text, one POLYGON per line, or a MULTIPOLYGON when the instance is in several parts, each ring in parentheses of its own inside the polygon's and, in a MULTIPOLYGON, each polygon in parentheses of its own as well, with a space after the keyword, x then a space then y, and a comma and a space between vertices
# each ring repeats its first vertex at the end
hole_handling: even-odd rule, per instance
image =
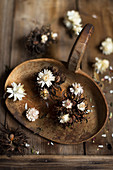
POLYGON ((80 69, 82 56, 92 31, 93 26, 87 24, 77 38, 69 56, 68 69, 61 62, 54 59, 29 60, 17 66, 5 83, 5 90, 12 82, 16 82, 24 84, 27 92, 27 96, 22 101, 13 102, 12 99, 6 99, 6 106, 12 115, 34 133, 57 143, 78 144, 87 141, 100 132, 107 120, 108 106, 103 93, 93 79, 80 69), (83 86, 88 100, 88 107, 92 110, 89 113, 88 123, 85 121, 75 123, 72 129, 63 129, 60 125, 54 124, 54 120, 51 119, 51 115, 54 113, 53 107, 47 108, 46 103, 36 96, 32 81, 35 73, 50 65, 57 66, 66 75, 66 81, 62 84, 63 89, 74 82, 78 82, 83 86), (26 103, 28 108, 35 107, 39 109, 40 114, 48 113, 47 116, 35 122, 29 122, 24 116, 26 103))

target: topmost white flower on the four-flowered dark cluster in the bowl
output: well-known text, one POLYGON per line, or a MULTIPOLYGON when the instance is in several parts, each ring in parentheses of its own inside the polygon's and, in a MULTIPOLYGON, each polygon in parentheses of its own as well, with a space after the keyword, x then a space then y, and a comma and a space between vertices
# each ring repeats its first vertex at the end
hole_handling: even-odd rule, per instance
POLYGON ((73 83, 73 87, 70 88, 70 92, 74 93, 75 95, 80 95, 83 93, 83 87, 80 85, 80 83, 73 83))

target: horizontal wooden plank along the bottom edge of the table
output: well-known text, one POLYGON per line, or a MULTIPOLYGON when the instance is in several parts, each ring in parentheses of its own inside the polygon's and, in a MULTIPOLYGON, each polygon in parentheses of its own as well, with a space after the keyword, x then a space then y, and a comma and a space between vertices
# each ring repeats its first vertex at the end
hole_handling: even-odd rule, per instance
POLYGON ((113 156, 16 156, 1 157, 0 169, 78 170, 113 169, 113 156))

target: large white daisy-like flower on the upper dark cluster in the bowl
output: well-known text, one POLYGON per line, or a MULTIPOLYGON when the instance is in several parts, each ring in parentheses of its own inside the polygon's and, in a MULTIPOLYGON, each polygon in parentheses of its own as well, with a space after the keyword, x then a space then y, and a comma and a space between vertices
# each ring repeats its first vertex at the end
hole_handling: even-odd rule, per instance
POLYGON ((44 87, 44 85, 50 87, 53 81, 55 81, 55 76, 53 76, 53 73, 50 70, 44 69, 44 71, 39 72, 37 83, 41 84, 41 87, 44 87))

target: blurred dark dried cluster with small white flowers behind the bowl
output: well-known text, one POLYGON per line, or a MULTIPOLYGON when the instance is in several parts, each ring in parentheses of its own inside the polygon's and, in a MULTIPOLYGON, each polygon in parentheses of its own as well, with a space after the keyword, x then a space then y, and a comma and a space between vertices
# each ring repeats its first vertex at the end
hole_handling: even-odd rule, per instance
POLYGON ((51 31, 50 26, 35 28, 27 37, 26 49, 31 55, 45 53, 47 46, 57 41, 58 34, 51 31))

